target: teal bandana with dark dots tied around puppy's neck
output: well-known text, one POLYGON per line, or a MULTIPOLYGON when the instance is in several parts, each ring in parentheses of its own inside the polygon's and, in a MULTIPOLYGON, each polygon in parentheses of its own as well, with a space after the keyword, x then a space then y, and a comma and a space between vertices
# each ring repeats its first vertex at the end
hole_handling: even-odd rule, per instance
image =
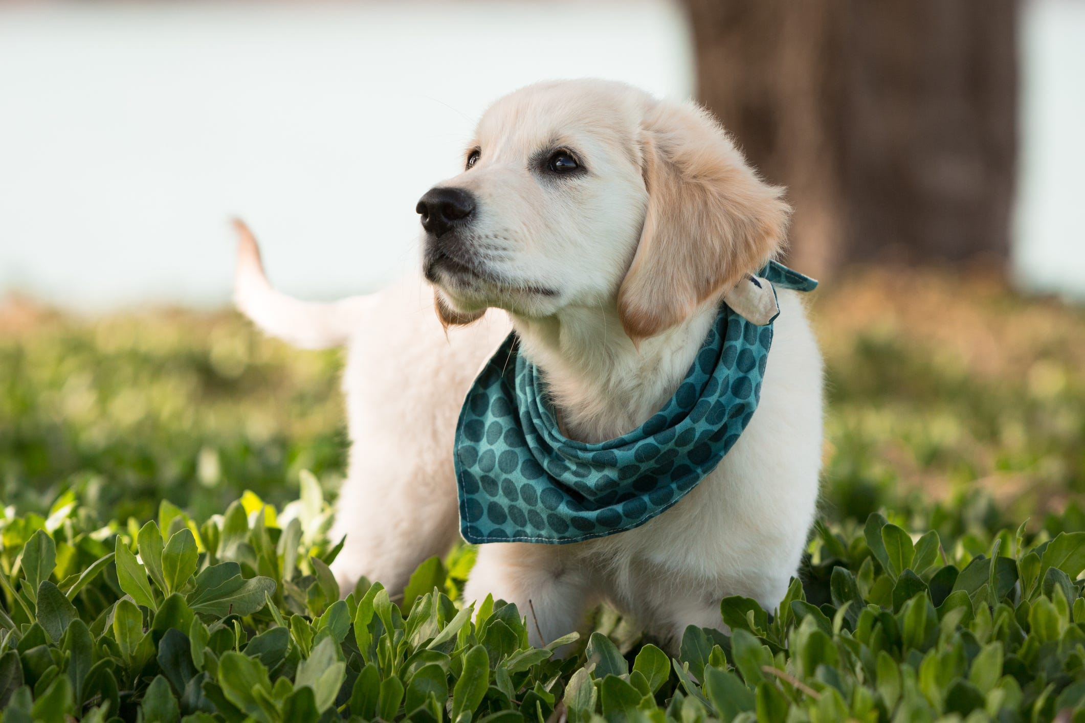
POLYGON ((463 538, 580 542, 643 525, 681 500, 757 409, 778 314, 773 287, 817 285, 775 261, 743 283, 767 294, 766 282, 774 315, 758 326, 720 304, 675 396, 640 427, 605 442, 559 431, 541 374, 510 334, 468 391, 456 428, 463 538))

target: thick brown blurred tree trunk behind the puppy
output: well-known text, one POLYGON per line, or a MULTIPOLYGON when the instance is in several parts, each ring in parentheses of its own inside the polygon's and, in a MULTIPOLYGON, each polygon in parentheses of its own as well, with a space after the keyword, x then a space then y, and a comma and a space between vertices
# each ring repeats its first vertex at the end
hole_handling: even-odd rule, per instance
POLYGON ((1016 0, 685 0, 698 96, 788 186, 792 261, 1009 250, 1016 0))

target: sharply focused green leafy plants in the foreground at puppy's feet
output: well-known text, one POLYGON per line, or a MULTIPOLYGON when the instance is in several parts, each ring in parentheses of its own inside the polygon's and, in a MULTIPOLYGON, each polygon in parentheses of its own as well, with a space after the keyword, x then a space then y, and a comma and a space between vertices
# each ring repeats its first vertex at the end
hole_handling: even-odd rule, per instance
POLYGON ((819 525, 778 609, 722 601, 727 634, 655 644, 604 612, 534 648, 514 606, 457 604, 465 547, 398 601, 342 596, 328 506, 302 490, 202 526, 164 502, 97 527, 71 495, 48 524, 5 514, 0 721, 1085 720, 1085 532, 980 552, 880 514, 819 525))

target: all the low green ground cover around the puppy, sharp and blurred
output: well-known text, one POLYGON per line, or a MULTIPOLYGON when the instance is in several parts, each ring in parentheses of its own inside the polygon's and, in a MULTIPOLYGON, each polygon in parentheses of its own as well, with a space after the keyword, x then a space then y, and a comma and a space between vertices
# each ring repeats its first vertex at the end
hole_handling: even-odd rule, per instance
POLYGON ((802 579, 666 650, 605 608, 531 648, 467 546, 340 591, 335 353, 0 308, 0 721, 1085 721, 1085 314, 936 273, 814 306, 802 579))

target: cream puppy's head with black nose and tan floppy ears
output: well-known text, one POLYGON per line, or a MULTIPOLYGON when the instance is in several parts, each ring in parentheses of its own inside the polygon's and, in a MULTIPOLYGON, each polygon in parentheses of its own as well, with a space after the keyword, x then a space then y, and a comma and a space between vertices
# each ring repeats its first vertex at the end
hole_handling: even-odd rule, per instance
POLYGON ((788 206, 690 104, 604 81, 531 86, 478 124, 464 171, 418 204, 445 324, 616 305, 659 334, 756 270, 788 206))

